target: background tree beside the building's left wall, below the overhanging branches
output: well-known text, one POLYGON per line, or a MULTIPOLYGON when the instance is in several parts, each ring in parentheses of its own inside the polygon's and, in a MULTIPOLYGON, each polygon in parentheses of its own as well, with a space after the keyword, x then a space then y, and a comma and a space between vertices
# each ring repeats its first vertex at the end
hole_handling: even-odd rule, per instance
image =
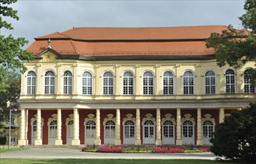
MULTIPOLYGON (((14 71, 10 71, 3 66, 0 66, 0 72, 3 76, 3 83, 8 83, 8 87, 5 92, 0 92, 0 120, 4 121, 9 118, 9 109, 7 108, 7 101, 16 102, 19 99, 20 94, 20 74, 14 71)), ((17 104, 16 104, 17 105, 17 104)), ((14 108, 17 108, 14 106, 14 108)))

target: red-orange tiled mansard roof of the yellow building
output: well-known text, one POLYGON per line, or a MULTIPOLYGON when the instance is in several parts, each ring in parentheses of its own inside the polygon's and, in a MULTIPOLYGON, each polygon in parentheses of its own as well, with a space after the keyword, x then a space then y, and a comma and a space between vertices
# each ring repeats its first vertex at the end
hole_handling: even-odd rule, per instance
POLYGON ((28 51, 39 54, 48 46, 62 55, 208 55, 205 39, 227 26, 171 28, 72 28, 35 38, 28 51))

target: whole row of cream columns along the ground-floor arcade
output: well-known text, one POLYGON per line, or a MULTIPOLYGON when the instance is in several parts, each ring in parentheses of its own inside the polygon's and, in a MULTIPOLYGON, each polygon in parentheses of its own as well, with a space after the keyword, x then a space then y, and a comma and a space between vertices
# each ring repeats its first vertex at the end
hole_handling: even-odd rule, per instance
MULTIPOLYGON (((161 139, 161 115, 160 108, 156 109, 156 145, 162 145, 161 139)), ((219 109, 219 123, 224 121, 225 109, 219 109)), ((140 109, 136 109, 136 121, 135 121, 135 145, 141 145, 141 116, 140 109)), ((181 116, 180 108, 177 108, 177 118, 176 118, 176 145, 182 145, 181 138, 181 116)), ((41 109, 37 109, 37 133, 34 145, 42 145, 41 138, 41 109)), ((61 109, 57 110, 57 137, 55 140, 55 145, 62 145, 61 140, 61 109)), ((202 131, 201 131, 201 108, 197 109, 197 145, 203 145, 202 131)), ((21 122, 20 122, 20 137, 19 145, 28 145, 28 110, 21 109, 21 122)), ((96 130, 95 130, 95 145, 101 145, 100 140, 100 109, 96 109, 96 130)), ((115 145, 121 145, 121 114, 120 109, 116 109, 116 122, 115 122, 115 145)), ((80 145, 79 140, 79 110, 73 108, 73 140, 71 145, 80 145)))

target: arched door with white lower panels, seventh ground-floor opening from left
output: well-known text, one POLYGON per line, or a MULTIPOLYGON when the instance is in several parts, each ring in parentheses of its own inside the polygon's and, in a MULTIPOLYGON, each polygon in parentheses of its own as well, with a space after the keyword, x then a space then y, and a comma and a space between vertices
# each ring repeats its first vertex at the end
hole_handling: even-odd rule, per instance
POLYGON ((153 124, 153 121, 145 121, 143 129, 143 144, 155 144, 155 125, 153 124))

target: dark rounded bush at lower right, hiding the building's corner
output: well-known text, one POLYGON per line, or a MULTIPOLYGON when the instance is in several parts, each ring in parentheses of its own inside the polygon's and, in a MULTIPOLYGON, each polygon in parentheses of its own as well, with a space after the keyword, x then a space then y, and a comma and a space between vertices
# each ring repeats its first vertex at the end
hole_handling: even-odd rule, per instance
POLYGON ((210 151, 227 160, 256 163, 256 104, 235 110, 216 126, 210 151))

